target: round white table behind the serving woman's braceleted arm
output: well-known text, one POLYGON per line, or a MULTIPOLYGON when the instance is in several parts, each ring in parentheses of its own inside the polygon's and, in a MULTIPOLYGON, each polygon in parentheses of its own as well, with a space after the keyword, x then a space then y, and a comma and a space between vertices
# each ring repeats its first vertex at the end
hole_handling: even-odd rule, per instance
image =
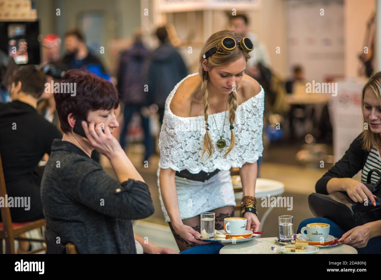
MULTIPOLYGON (((242 185, 240 183, 233 183, 233 189, 235 192, 235 199, 241 200, 243 197, 242 185)), ((279 196, 284 192, 284 190, 285 190, 285 185, 280 181, 257 178, 256 184, 255 184, 255 198, 261 199, 262 197, 267 197, 267 196, 270 196, 270 197, 279 196)), ((237 206, 239 208, 241 207, 240 204, 237 204, 237 206)), ((266 221, 266 218, 270 214, 272 208, 273 207, 268 207, 266 211, 264 212, 263 217, 260 221, 261 226, 259 227, 259 231, 262 231, 264 222, 266 221)))

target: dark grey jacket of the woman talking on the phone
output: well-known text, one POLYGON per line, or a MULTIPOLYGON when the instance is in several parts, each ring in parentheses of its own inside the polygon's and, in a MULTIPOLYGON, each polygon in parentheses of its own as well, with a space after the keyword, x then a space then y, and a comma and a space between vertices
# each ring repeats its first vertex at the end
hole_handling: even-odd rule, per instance
POLYGON ((78 253, 136 254, 131 220, 154 213, 148 186, 107 175, 74 144, 54 140, 41 182, 46 239, 78 253))

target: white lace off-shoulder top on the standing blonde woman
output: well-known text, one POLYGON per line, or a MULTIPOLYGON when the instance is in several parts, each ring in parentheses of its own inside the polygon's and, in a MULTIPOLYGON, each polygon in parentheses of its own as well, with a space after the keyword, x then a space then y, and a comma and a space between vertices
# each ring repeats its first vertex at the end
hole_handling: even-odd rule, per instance
MULTIPOLYGON (((170 110, 170 103, 179 85, 186 79, 199 73, 193 73, 179 81, 168 95, 165 101, 165 110, 162 128, 160 130, 158 147, 160 150, 159 168, 171 168, 176 171, 187 169, 196 174, 200 171, 212 172, 216 169, 229 170, 231 167, 242 167, 246 162, 254 163, 262 156, 263 142, 263 110, 264 90, 237 106, 233 123, 235 133, 235 145, 227 156, 223 157, 230 145, 229 111, 209 115, 208 128, 212 143, 219 140, 219 133, 223 133, 226 146, 223 149, 215 146, 213 155, 205 162, 202 161, 203 138, 206 132, 204 116, 179 117, 170 110)), ((208 157, 204 153, 203 159, 208 157)))

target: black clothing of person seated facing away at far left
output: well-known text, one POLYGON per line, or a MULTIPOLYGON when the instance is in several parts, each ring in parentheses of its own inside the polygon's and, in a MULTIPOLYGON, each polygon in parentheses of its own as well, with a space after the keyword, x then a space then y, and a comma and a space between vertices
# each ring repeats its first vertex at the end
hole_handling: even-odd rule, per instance
MULTIPOLYGON (((0 155, 9 197, 30 197, 30 209, 10 207, 13 222, 43 218, 38 162, 50 154, 61 132, 31 105, 14 100, 0 103, 0 155)), ((0 221, 1 221, 0 217, 0 221)))

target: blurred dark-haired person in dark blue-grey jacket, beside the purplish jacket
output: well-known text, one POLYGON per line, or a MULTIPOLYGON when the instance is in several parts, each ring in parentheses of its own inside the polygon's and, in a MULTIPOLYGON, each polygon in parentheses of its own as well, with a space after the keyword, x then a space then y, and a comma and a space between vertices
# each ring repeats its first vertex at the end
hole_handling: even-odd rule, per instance
POLYGON ((149 103, 158 106, 160 123, 163 123, 165 100, 173 87, 188 75, 184 60, 170 45, 166 27, 159 27, 156 36, 160 45, 149 59, 147 73, 149 103))

